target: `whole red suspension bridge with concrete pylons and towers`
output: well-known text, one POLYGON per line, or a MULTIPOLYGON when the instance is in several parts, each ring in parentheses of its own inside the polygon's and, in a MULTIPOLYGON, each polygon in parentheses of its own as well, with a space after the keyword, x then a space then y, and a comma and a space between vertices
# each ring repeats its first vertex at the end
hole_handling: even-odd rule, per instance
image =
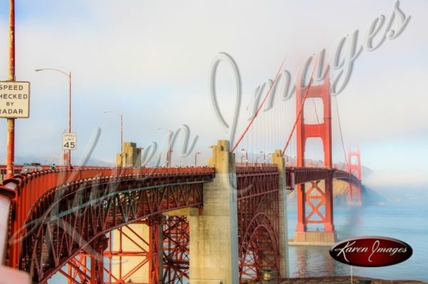
POLYGON ((346 170, 332 162, 330 100, 328 76, 297 88, 294 138, 278 138, 287 145, 270 163, 248 163, 250 149, 275 140, 260 146, 267 127, 253 119, 233 147, 213 146, 209 167, 75 167, 4 179, 1 261, 32 283, 58 274, 67 283, 238 283, 266 270, 287 278, 287 190, 297 191, 295 242, 336 241, 334 179, 349 182, 349 203, 361 204, 360 152, 349 152, 346 170), (307 123, 310 99, 322 102, 315 123, 307 123), (314 138, 322 159, 308 163, 314 138), (323 229, 310 231, 312 224, 323 229))

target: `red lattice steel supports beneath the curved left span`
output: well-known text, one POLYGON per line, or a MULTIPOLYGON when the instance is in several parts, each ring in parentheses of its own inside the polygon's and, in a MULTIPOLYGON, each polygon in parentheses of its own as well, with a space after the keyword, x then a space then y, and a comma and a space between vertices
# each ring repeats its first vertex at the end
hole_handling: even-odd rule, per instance
MULTIPOLYGON (((163 253, 163 283, 188 283, 189 279, 189 227, 185 216, 153 216, 145 221, 137 221, 116 230, 116 247, 112 243, 112 232, 108 233, 108 248, 102 251, 104 268, 103 283, 159 283, 159 257, 163 253), (132 227, 144 223, 149 227, 148 238, 132 227), (163 227, 163 247, 159 247, 159 231, 163 227), (133 249, 126 250, 124 243, 132 243, 133 249), (114 248, 114 249, 113 249, 114 248), (159 251, 161 249, 161 251, 159 251), (123 263, 133 263, 124 268, 123 263), (113 270, 114 268, 114 270, 113 270), (156 269, 157 268, 157 269, 156 269), (148 270, 148 280, 142 280, 142 270, 148 270)), ((68 284, 90 283, 91 254, 81 251, 58 270, 68 284)))

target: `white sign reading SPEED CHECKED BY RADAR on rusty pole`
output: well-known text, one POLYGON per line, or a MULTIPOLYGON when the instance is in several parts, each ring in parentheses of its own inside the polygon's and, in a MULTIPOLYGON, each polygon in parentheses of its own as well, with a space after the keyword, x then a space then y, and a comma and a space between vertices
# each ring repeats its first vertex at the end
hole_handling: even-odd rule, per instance
POLYGON ((0 81, 0 117, 30 116, 30 83, 0 81))

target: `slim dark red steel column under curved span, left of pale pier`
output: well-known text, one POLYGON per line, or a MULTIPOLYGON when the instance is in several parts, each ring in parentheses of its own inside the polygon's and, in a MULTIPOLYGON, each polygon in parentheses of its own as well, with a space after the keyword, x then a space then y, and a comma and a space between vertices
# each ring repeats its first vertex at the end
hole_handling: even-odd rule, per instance
POLYGON ((108 238, 106 236, 100 236, 91 243, 93 250, 91 253, 91 284, 104 283, 103 251, 107 246, 108 238))

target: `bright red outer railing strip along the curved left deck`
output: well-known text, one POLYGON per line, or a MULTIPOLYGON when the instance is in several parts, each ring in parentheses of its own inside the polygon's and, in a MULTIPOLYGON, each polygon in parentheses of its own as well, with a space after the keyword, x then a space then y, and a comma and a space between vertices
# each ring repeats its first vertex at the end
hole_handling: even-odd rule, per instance
MULTIPOLYGON (((2 191, 9 193, 12 197, 11 227, 9 237, 24 228, 27 217, 31 214, 32 207, 47 191, 57 188, 61 184, 74 184, 81 181, 109 180, 118 182, 119 179, 148 179, 149 181, 159 178, 181 178, 203 177, 206 174, 214 174, 213 168, 106 168, 106 167, 84 167, 74 170, 56 170, 32 172, 19 174, 12 179, 6 179, 1 186, 2 191), (9 186, 12 184, 12 186, 9 186), (13 190, 11 190, 13 188, 13 190)), ((19 238, 19 236, 17 236, 19 238)), ((19 250, 17 245, 9 246, 7 264, 13 268, 19 267, 19 250)))

